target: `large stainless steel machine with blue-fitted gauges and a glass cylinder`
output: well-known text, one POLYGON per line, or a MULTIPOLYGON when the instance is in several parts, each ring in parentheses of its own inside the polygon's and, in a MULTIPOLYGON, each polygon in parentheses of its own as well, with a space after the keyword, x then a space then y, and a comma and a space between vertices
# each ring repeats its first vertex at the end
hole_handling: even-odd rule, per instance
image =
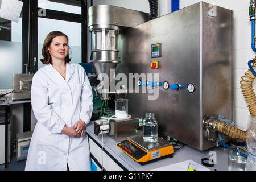
POLYGON ((129 99, 132 118, 154 112, 159 133, 198 150, 214 147, 204 117, 233 119, 232 10, 200 2, 149 20, 146 13, 98 5, 89 8, 88 26, 97 73, 115 78, 115 85, 119 73, 127 78, 120 95, 99 76, 102 99, 117 93, 129 99))

